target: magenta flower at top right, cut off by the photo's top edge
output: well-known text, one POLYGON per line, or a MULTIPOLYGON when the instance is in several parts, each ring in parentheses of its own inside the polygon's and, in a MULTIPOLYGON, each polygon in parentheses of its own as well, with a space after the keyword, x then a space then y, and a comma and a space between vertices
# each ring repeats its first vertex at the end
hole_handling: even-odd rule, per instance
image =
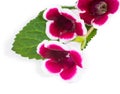
POLYGON ((80 13, 81 19, 87 24, 104 24, 109 14, 117 11, 118 0, 79 0, 77 7, 83 11, 80 13))

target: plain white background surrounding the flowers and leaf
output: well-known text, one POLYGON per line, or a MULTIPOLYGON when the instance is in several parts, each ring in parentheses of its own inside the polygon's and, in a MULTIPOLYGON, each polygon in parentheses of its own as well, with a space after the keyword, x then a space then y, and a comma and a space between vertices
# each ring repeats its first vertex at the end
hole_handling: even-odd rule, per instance
POLYGON ((40 72, 41 62, 11 51, 15 34, 38 13, 77 0, 0 0, 0 94, 120 94, 120 9, 84 50, 79 80, 40 72))

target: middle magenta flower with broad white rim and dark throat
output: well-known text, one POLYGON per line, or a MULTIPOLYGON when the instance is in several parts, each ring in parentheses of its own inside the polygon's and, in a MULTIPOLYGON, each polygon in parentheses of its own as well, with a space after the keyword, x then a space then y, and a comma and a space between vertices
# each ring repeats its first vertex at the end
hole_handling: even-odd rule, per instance
POLYGON ((69 9, 50 8, 47 9, 43 17, 46 23, 46 34, 50 39, 72 40, 76 35, 83 35, 83 26, 79 15, 69 9))

